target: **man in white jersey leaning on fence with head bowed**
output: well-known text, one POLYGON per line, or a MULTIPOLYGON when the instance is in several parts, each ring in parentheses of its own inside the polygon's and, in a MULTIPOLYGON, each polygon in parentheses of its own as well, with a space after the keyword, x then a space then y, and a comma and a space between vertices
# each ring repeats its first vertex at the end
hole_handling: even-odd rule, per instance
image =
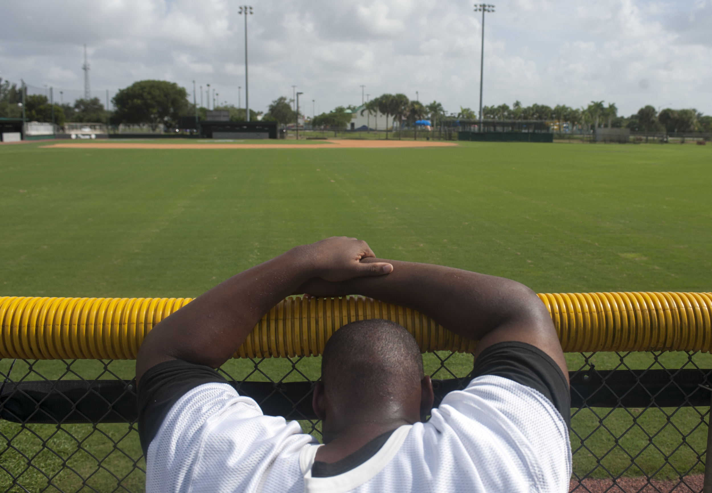
POLYGON ((545 306, 509 279, 377 259, 353 238, 297 246, 159 323, 136 375, 149 492, 568 489, 566 363, 545 306), (361 294, 421 311, 479 341, 473 380, 432 408, 414 338, 389 321, 350 323, 328 341, 314 388, 319 445, 214 370, 295 293, 361 294))

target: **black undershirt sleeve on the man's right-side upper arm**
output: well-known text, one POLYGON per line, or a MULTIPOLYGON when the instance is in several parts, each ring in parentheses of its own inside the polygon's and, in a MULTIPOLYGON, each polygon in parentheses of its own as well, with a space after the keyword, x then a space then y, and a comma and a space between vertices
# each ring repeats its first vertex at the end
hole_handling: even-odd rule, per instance
POLYGON ((538 390, 571 425, 571 392, 564 373, 544 351, 531 344, 506 341, 486 348, 475 361, 472 378, 497 375, 538 390))

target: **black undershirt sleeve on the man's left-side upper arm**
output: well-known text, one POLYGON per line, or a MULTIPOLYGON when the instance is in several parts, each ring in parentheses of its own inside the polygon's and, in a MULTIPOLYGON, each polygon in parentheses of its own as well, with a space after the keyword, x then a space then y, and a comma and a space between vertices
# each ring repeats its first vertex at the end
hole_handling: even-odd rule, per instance
POLYGON ((206 365, 183 360, 158 363, 143 374, 138 385, 138 436, 144 455, 168 411, 189 390, 204 383, 228 383, 206 365))

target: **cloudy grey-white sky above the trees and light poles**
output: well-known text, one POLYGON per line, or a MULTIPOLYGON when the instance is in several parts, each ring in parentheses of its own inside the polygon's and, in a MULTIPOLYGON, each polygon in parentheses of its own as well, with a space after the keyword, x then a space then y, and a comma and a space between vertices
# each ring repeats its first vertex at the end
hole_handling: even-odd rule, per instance
MULTIPOLYGON (((244 105, 244 19, 225 0, 1 0, 0 77, 80 97, 147 78, 211 84, 244 105)), ((292 85, 305 113, 405 93, 477 108, 481 16, 455 0, 253 0, 250 107, 292 85)), ((497 0, 485 30, 485 104, 616 103, 712 114, 712 0, 497 0)), ((39 89, 35 89, 39 90, 39 89)))

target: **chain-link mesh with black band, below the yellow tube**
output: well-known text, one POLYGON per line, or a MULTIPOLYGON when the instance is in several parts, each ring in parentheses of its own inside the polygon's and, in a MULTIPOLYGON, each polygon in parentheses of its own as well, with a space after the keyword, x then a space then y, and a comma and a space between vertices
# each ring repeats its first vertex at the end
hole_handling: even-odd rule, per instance
MULTIPOLYGON (((704 470, 710 355, 568 353, 567 361, 572 491, 699 491, 690 478, 704 470), (625 489, 626 477, 642 486, 625 489)), ((464 388, 472 365, 466 353, 424 354, 436 405, 464 388)), ((311 409, 319 357, 234 359, 219 372, 266 414, 299 420, 320 439, 311 409)), ((144 491, 133 374, 131 360, 0 360, 0 491, 144 491)))

